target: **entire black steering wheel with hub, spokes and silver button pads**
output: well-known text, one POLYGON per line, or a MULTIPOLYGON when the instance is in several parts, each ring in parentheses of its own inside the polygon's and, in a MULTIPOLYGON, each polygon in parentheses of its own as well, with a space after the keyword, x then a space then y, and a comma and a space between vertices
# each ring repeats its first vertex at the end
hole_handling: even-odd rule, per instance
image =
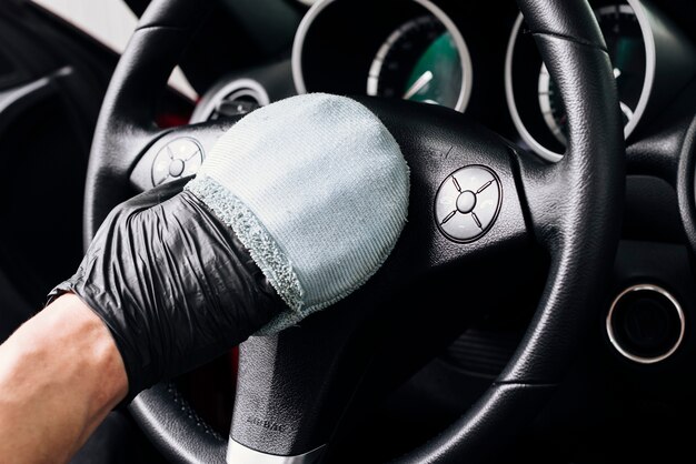
MULTIPOLYGON (((115 205, 152 188, 153 175, 170 168, 162 151, 188 147, 181 161, 195 170, 202 154, 191 155, 191 148, 205 153, 236 122, 173 130, 152 122, 157 95, 212 3, 153 0, 141 18, 95 134, 87 242, 115 205)), ((624 148, 609 57, 588 3, 518 6, 567 110, 563 160, 544 162, 455 111, 359 99, 391 131, 411 169, 408 224, 395 251, 334 307, 240 346, 229 438, 207 426, 171 383, 139 395, 130 411, 168 458, 340 460, 342 432, 360 412, 460 334, 477 311, 514 291, 515 276, 544 255, 545 289, 504 372, 466 414, 399 462, 485 461, 539 412, 599 306, 619 236, 624 148), (465 220, 476 228, 447 224, 465 220)))

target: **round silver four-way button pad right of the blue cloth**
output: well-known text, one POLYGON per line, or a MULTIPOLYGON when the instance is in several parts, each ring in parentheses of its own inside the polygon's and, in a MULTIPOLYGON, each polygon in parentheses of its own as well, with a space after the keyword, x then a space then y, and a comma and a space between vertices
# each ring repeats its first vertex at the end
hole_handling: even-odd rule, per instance
POLYGON ((440 232, 458 243, 483 236, 500 211, 500 180, 484 165, 461 168, 445 179, 435 199, 435 219, 440 232))

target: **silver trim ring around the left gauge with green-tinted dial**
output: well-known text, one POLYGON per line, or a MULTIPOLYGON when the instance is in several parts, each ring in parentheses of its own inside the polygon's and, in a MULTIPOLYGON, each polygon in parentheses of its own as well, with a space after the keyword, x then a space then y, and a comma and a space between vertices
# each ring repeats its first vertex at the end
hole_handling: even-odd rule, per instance
MULTIPOLYGON (((307 38, 307 32, 311 23, 319 16, 325 8, 329 4, 336 2, 337 0, 319 0, 315 3, 307 14, 302 18, 300 26, 297 28, 297 33, 295 34, 295 41, 292 43, 292 79, 295 80, 295 89, 298 94, 307 93, 307 85, 305 83, 305 75, 302 73, 302 50, 305 48, 305 39, 307 38)), ((459 112, 464 112, 469 103, 469 98, 471 97, 471 87, 474 83, 474 67, 471 65, 471 57, 469 54, 469 49, 461 36, 461 31, 455 24, 455 22, 443 11, 438 6, 432 3, 430 0, 411 0, 426 10, 428 10, 435 18, 437 18, 444 26, 445 29, 451 34, 455 40, 455 44, 457 46, 457 50, 459 51, 459 59, 461 61, 461 90, 459 92, 459 99, 457 100, 457 104, 455 110, 459 112)), ((379 57, 376 57, 378 59, 379 57)), ((370 73, 371 74, 371 73, 370 73)), ((369 79, 369 75, 368 75, 369 79)), ((369 83, 368 83, 369 85, 369 83)))

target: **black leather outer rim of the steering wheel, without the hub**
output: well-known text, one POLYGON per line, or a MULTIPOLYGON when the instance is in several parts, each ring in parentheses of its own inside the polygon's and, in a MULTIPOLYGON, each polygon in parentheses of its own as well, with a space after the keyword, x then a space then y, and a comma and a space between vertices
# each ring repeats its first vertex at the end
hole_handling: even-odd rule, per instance
MULTIPOLYGON (((86 243, 110 209, 135 193, 133 165, 166 137, 167 131, 152 122, 158 91, 211 3, 153 0, 141 18, 113 74, 95 134, 86 184, 86 243)), ((568 150, 560 162, 513 154, 526 226, 550 255, 547 284, 523 342, 500 376, 465 415, 402 462, 457 456, 484 461, 493 443, 514 436, 534 416, 577 351, 618 242, 623 135, 615 82, 596 19, 583 0, 518 0, 518 4, 569 120, 568 150)), ((378 112, 388 119, 389 112, 385 114, 378 112)), ((213 129, 221 133, 226 128, 213 129)), ((225 440, 172 384, 145 392, 130 411, 172 461, 225 462, 225 440)), ((282 454, 272 451, 267 453, 282 454)), ((309 462, 314 456, 296 461, 309 462)))

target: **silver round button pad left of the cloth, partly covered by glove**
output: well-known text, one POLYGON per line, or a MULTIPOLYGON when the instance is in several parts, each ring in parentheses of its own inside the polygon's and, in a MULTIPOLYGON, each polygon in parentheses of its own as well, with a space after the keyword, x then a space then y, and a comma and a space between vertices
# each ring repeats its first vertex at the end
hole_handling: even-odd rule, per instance
POLYGON ((179 178, 193 175, 203 162, 203 150, 189 137, 180 137, 167 143, 152 163, 155 186, 179 178))

